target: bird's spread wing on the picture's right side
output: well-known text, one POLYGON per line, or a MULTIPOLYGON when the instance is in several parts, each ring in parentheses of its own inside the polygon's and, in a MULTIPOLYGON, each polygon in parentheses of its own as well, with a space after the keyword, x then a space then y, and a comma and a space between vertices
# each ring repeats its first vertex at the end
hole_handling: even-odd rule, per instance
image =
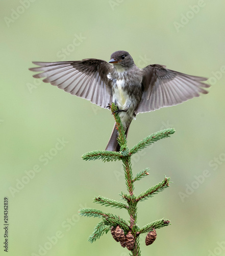
POLYGON ((207 78, 186 75, 162 65, 149 65, 142 72, 143 95, 135 114, 180 104, 200 93, 208 93, 203 88, 210 87, 202 82, 207 78))

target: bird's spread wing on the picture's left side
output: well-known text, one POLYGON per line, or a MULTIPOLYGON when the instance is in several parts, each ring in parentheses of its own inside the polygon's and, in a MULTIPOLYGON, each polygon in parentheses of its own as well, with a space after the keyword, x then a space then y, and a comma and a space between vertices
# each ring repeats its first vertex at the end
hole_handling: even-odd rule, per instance
POLYGON ((106 108, 112 102, 110 80, 107 78, 113 67, 101 59, 80 61, 33 62, 40 67, 31 71, 41 72, 34 75, 78 97, 106 108))

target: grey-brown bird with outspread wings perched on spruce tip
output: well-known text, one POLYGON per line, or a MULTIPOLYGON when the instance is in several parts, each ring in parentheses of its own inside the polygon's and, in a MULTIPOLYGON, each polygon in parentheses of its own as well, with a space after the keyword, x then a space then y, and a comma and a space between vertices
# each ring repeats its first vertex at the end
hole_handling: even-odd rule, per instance
MULTIPOLYGON (((110 61, 86 58, 76 61, 40 62, 31 71, 33 77, 44 78, 72 95, 90 100, 107 109, 111 102, 118 108, 126 136, 136 115, 155 111, 207 94, 205 77, 192 76, 167 69, 164 65, 138 68, 127 51, 112 53, 110 61)), ((106 146, 107 151, 119 151, 116 124, 106 146)))

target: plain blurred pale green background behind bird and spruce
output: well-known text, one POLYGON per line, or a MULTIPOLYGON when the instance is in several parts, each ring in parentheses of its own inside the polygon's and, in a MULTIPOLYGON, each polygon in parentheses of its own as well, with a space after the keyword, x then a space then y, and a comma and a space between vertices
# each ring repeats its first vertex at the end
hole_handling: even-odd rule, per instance
POLYGON ((121 162, 81 159, 105 149, 110 112, 28 70, 35 60, 110 60, 117 50, 129 51, 139 68, 159 63, 212 84, 207 95, 132 122, 129 146, 160 129, 176 129, 133 158, 134 174, 151 168, 137 182, 137 194, 164 175, 174 182, 138 206, 140 226, 160 218, 172 223, 158 230, 151 246, 141 237, 142 255, 225 255, 224 8, 222 0, 1 1, 1 255, 6 196, 7 255, 129 255, 110 233, 87 242, 99 220, 78 216, 79 208, 95 207, 128 218, 123 210, 92 203, 98 195, 119 200, 126 190, 121 162), (33 168, 39 172, 28 180, 33 168))

